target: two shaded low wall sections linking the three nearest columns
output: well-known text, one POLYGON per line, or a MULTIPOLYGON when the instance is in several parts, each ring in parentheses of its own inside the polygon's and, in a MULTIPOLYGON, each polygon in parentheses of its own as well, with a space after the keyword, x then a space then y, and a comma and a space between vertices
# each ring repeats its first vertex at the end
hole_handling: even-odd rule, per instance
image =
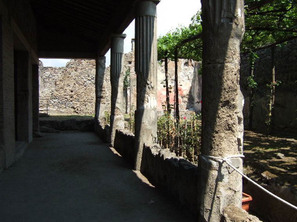
MULTIPOLYGON (((114 148, 134 166, 134 136, 116 131, 114 148)), ((150 183, 165 191, 178 203, 189 209, 195 216, 198 213, 198 168, 183 158, 176 157, 169 149, 144 146, 140 172, 150 183)))

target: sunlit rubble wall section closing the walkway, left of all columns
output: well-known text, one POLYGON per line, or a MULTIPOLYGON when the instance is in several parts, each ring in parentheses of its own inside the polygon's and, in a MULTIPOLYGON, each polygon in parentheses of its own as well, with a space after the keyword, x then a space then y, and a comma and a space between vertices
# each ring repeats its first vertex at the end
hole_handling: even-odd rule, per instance
POLYGON ((72 59, 65 67, 39 66, 40 109, 52 115, 93 115, 95 60, 72 59))

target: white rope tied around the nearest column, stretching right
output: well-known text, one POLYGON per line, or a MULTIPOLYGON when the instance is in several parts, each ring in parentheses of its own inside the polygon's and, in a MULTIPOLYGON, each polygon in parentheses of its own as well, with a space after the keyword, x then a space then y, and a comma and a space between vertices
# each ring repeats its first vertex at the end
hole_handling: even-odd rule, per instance
POLYGON ((250 181, 252 184, 254 184, 255 186, 259 187, 261 190, 263 190, 264 192, 268 193, 269 195, 271 195, 272 197, 276 198, 277 200, 279 200, 280 202, 283 202, 284 204, 292 207, 293 209, 297 210, 297 207, 293 204, 290 204, 289 202, 283 200, 282 198, 278 197, 277 195, 271 193, 270 191, 268 191, 267 189, 265 189, 263 186, 260 186, 259 184, 257 184, 255 181, 253 181, 252 179, 248 178, 246 175, 244 175, 243 173, 241 173, 235 166, 233 166, 231 163, 229 163, 229 161, 227 161, 230 158, 236 158, 236 157, 244 157, 244 155, 234 155, 234 156, 228 156, 228 157, 213 157, 213 156, 206 156, 206 155, 202 155, 203 157, 207 157, 210 159, 215 159, 215 160, 220 160, 221 163, 226 162, 230 167, 232 167, 237 173, 239 173, 241 176, 243 176, 244 178, 246 178, 248 181, 250 181))

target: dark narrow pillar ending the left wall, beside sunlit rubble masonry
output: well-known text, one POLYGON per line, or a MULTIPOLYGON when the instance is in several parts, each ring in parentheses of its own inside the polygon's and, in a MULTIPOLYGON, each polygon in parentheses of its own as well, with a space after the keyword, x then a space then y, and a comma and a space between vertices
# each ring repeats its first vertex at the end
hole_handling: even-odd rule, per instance
POLYGON ((32 65, 32 118, 33 132, 39 132, 39 73, 38 65, 32 65))

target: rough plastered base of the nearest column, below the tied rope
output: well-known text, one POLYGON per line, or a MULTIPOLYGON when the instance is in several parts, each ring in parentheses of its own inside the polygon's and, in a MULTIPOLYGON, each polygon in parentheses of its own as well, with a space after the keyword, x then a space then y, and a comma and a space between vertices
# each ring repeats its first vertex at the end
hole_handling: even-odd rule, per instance
MULTIPOLYGON (((233 166, 242 171, 242 159, 229 159, 233 166)), ((234 205, 241 208, 242 177, 227 163, 219 163, 199 156, 199 221, 221 221, 223 208, 234 205)))

